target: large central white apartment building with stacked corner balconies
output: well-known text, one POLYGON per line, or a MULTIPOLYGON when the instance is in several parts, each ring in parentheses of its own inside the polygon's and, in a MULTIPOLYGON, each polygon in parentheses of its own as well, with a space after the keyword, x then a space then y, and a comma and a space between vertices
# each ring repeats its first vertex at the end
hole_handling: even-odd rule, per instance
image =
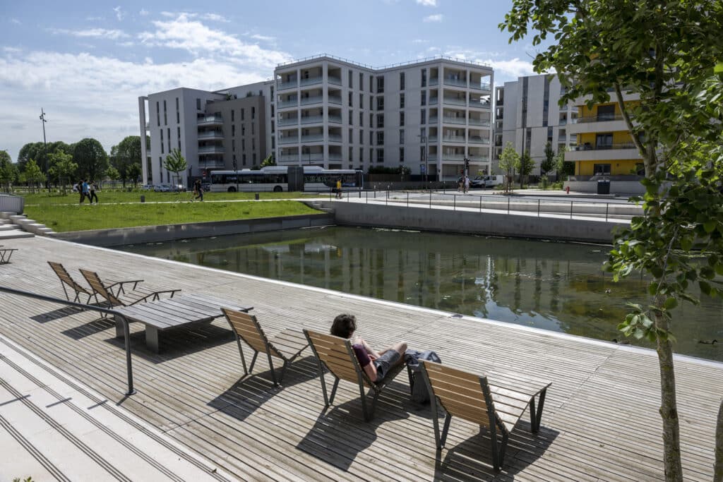
POLYGON ((281 64, 274 79, 280 165, 452 179, 468 158, 471 173, 489 173, 489 66, 440 57, 372 69, 324 55, 281 64))

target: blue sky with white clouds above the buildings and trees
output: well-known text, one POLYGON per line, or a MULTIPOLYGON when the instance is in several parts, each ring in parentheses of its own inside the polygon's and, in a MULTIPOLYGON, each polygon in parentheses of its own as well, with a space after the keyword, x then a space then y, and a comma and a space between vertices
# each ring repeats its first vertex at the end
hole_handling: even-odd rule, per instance
POLYGON ((327 53, 381 67, 433 56, 479 61, 495 85, 533 74, 530 40, 497 25, 512 0, 6 1, 0 4, 0 150, 139 135, 138 97, 271 79, 327 53))

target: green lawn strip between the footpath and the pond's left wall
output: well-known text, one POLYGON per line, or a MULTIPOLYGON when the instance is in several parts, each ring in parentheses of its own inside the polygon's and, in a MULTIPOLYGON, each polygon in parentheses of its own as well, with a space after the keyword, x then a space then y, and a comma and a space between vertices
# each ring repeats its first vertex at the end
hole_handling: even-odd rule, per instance
MULTIPOLYGON (((130 194, 130 193, 122 193, 130 194)), ((151 193, 167 194, 167 193, 151 193)), ((215 193, 214 193, 215 194, 215 193)), ((221 193, 219 193, 221 194, 221 193)), ((270 193, 269 193, 270 194, 270 193)), ((286 194, 286 193, 284 193, 286 194)), ((184 199, 184 202, 143 204, 29 204, 25 214, 56 232, 88 229, 130 228, 134 226, 203 223, 235 219, 273 218, 275 216, 319 214, 301 202, 188 202, 190 194, 170 194, 163 200, 184 199)), ((252 194, 253 196, 253 194, 252 194)), ((99 196, 100 197, 100 196, 99 196)), ((73 197, 75 199, 75 197, 73 197)), ((103 199, 103 198, 100 198, 103 199)), ((148 197, 146 197, 148 199, 148 197)), ((206 199, 206 198, 204 198, 206 199)))

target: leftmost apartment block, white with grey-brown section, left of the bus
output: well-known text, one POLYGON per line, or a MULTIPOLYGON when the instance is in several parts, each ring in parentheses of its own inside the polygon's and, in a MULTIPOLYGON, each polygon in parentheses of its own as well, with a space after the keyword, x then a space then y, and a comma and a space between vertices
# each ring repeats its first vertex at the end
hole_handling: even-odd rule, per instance
MULTIPOLYGON (((163 162, 174 149, 186 158, 189 177, 259 165, 274 147, 273 88, 273 82, 215 92, 181 87, 139 98, 140 124, 150 136, 150 152, 142 157, 150 158, 153 182, 171 181, 174 173, 163 162)), ((143 167, 147 184, 149 173, 143 167)))

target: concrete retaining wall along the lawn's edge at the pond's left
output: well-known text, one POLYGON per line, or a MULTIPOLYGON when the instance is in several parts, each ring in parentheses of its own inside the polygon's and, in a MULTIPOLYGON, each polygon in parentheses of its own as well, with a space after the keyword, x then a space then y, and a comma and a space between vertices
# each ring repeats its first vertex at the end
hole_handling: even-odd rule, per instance
POLYGON ((54 238, 74 241, 93 246, 119 246, 121 244, 159 243, 174 239, 205 238, 225 234, 257 233, 281 229, 309 228, 334 224, 330 214, 281 216, 232 221, 213 221, 210 223, 185 223, 160 226, 141 226, 138 228, 95 229, 54 233, 54 238))

